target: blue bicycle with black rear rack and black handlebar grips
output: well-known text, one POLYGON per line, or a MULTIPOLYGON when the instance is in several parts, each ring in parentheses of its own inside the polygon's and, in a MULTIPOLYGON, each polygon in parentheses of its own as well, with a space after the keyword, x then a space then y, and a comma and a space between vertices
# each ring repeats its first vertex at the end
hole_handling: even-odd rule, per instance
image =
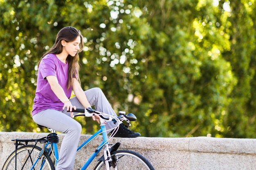
MULTIPOLYGON (((95 137, 102 134, 103 141, 92 153, 92 156, 81 170, 88 168, 102 148, 104 148, 103 155, 98 159, 99 162, 94 170, 155 170, 151 163, 139 153, 132 150, 118 150, 120 143, 116 143, 110 148, 110 144, 108 143, 115 133, 108 137, 104 122, 114 121, 115 124, 119 125, 122 121, 126 121, 130 125, 130 121, 137 119, 135 115, 132 113, 126 115, 125 112, 119 111, 119 116, 114 117, 97 110, 88 110, 88 113, 82 108, 77 108, 73 110, 73 112, 81 113, 73 117, 91 117, 97 114, 100 116, 101 121, 101 129, 77 148, 77 152, 79 152, 79 150, 89 144, 95 137)), ((116 132, 118 128, 119 126, 113 129, 114 132, 116 132)), ((13 139, 12 141, 15 142, 16 146, 15 151, 7 158, 2 170, 55 170, 55 166, 58 163, 57 143, 59 138, 54 130, 49 130, 51 133, 47 135, 47 137, 40 139, 13 139), (34 142, 35 144, 29 145, 29 142, 34 142), (43 144, 43 148, 36 146, 38 143, 43 144), (54 161, 52 161, 51 157, 53 157, 54 161)))

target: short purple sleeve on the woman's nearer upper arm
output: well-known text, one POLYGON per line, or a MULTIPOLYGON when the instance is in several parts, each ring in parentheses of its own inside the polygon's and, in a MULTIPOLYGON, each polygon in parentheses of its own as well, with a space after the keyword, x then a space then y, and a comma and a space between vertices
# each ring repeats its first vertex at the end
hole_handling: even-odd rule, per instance
POLYGON ((39 71, 41 72, 43 79, 45 79, 49 75, 56 76, 56 64, 51 57, 43 58, 40 66, 39 71))

